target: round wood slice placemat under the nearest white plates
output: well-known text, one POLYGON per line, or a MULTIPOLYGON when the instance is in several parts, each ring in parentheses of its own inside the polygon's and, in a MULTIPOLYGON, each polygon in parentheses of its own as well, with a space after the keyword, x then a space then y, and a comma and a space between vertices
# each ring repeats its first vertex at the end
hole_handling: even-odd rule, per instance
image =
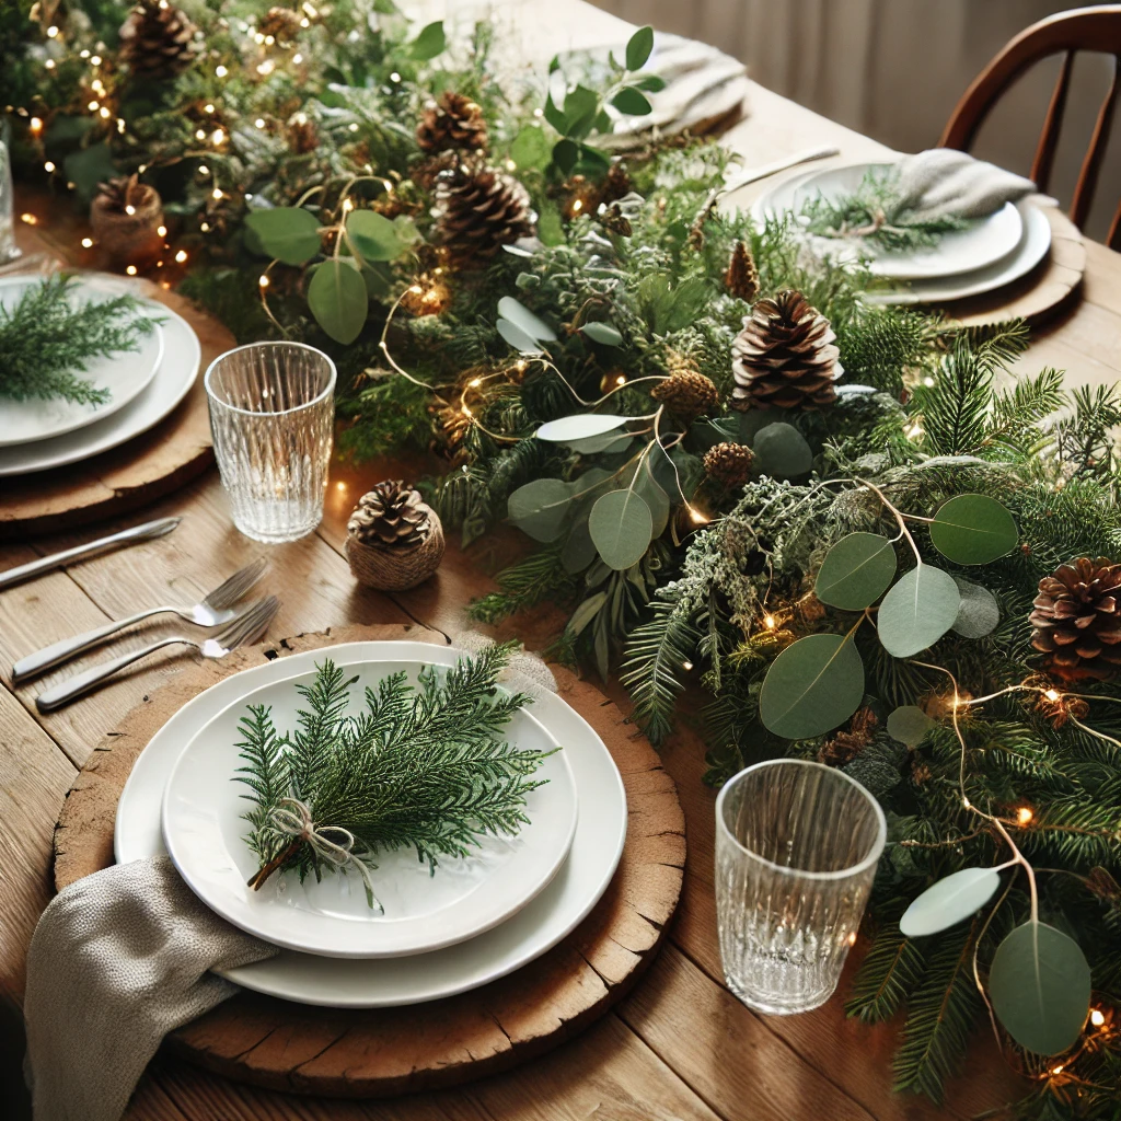
MULTIPOLYGON (((443 645, 411 626, 348 627, 241 650, 192 667, 105 736, 55 827, 57 889, 113 860, 117 802, 152 733, 198 692, 266 659, 339 642, 443 645)), ((274 1090, 387 1097, 456 1085, 540 1055, 618 1001, 652 960, 677 906, 685 817, 650 744, 594 686, 552 667, 558 692, 602 736, 627 789, 627 842, 606 893, 559 945, 516 973, 447 1000, 399 1009, 313 1008, 242 992, 170 1035, 206 1069, 274 1090)))

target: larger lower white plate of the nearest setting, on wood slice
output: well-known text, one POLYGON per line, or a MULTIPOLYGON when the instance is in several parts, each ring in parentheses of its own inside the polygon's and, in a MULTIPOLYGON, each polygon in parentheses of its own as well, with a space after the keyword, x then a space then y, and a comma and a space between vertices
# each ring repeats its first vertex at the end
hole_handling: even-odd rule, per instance
MULTIPOLYGON (((377 658, 454 665, 458 651, 424 642, 350 642, 331 648, 340 665, 377 658)), ((192 697, 140 753, 117 807, 114 852, 120 863, 166 852, 160 802, 187 741, 213 715, 259 685, 314 667, 323 651, 278 658, 243 670, 192 697)), ((228 970, 230 981, 281 1000, 332 1008, 390 1008, 439 1000, 506 976, 571 934, 608 889, 627 835, 622 779, 603 741, 555 694, 534 704, 537 719, 564 743, 580 799, 568 859, 548 887, 512 918, 478 938, 414 957, 354 961, 294 951, 228 970)))

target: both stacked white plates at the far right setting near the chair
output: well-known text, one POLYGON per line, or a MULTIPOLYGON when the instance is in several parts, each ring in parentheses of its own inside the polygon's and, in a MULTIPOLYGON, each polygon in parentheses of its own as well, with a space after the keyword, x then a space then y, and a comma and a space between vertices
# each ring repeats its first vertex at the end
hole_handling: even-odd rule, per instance
MULTIPOLYGON (((821 196, 836 201, 851 195, 870 172, 884 172, 890 164, 849 164, 807 172, 777 184, 752 206, 761 225, 768 217, 799 215, 806 203, 821 196)), ((868 293, 870 304, 943 304, 966 296, 994 291, 1030 272, 1050 249, 1051 230, 1038 201, 1025 198, 965 230, 944 234, 936 245, 910 253, 889 253, 862 243, 871 271, 891 287, 868 293)), ((821 245, 825 239, 810 239, 821 245)), ((856 249, 831 243, 833 256, 855 254, 856 249)))

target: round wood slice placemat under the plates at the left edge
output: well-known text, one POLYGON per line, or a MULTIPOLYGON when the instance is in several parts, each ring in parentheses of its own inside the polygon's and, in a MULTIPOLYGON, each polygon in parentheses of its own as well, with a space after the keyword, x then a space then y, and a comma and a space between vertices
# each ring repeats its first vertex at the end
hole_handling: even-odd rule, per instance
MULTIPOLYGON (((28 226, 20 229, 20 245, 28 253, 58 256, 28 226)), ((120 447, 65 467, 0 481, 0 539, 72 529, 128 513, 177 490, 214 462, 202 370, 237 346, 237 341, 184 297, 150 281, 142 287, 142 295, 177 312, 198 335, 203 356, 194 386, 170 416, 120 447)))

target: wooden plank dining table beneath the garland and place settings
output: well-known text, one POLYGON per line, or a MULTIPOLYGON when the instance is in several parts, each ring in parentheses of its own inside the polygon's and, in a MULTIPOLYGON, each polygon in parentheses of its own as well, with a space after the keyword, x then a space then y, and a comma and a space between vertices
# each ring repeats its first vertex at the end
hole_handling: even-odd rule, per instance
MULTIPOLYGON (((614 33, 602 13, 575 2, 548 6, 571 20, 614 33)), ((555 41, 555 40, 554 40, 555 41)), ((883 154, 881 146, 807 110, 753 87, 749 117, 728 137, 748 166, 812 145, 835 143, 843 159, 883 154)), ((733 202, 744 204, 745 188, 733 202)), ((1037 332, 1020 368, 1064 368, 1072 383, 1121 378, 1121 257, 1087 244, 1082 299, 1037 332)), ((340 469, 319 530, 269 550, 271 591, 284 608, 276 637, 343 623, 407 622, 452 631, 463 606, 492 587, 489 574, 520 548, 498 531, 467 554, 454 546, 439 574, 393 596, 359 587, 341 553, 346 515, 368 487, 417 470, 417 464, 369 463, 340 469)), ((80 469, 75 469, 80 470, 80 469)), ((3 501, 0 491, 0 502, 3 501)), ((183 515, 166 540, 138 546, 0 593, 0 1011, 8 1013, 9 1046, 0 1035, 0 1100, 16 1094, 18 1009, 25 955, 35 921, 50 897, 52 830, 59 805, 94 743, 126 713, 182 667, 175 656, 151 659, 131 676, 50 716, 39 716, 34 688, 11 685, 12 661, 47 642, 106 619, 160 602, 192 602, 261 552, 233 529, 216 473, 211 470, 143 517, 183 515), (12 1026, 16 1026, 12 1030, 12 1026)), ((109 522, 104 531, 140 518, 109 522)), ((89 539, 57 535, 0 547, 0 569, 89 539)), ((559 617, 549 610, 516 620, 529 648, 540 648, 559 617)), ((145 638, 151 631, 145 632, 145 638)), ((139 643, 139 638, 129 642, 139 643)), ((48 682, 57 678, 47 678, 48 682)), ((623 701, 618 685, 612 695, 623 701)), ((664 751, 677 781, 688 827, 685 891, 669 939, 649 973, 615 1011, 576 1040, 510 1074, 462 1090, 390 1103, 327 1102, 266 1093, 157 1059, 129 1110, 145 1121, 895 1121, 967 1118, 1008 1101, 1021 1086, 1007 1072, 988 1032, 979 1031, 963 1075, 937 1109, 891 1093, 891 1051, 898 1025, 876 1029, 845 1019, 840 998, 798 1017, 763 1018, 724 988, 713 900, 713 791, 701 782, 704 749, 685 730, 664 751)), ((859 956, 858 954, 854 956, 859 956)), ((851 975, 851 966, 850 973, 851 975)), ((846 984, 842 981, 842 991, 846 984)))

